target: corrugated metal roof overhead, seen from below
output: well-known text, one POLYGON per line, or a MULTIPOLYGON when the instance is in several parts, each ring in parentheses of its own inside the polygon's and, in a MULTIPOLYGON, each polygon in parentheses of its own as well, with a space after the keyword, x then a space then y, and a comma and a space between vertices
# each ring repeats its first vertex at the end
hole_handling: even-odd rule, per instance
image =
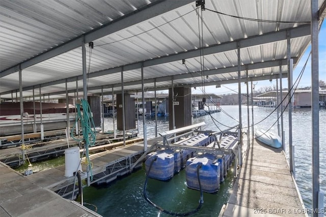
MULTIPOLYGON (((130 91, 140 89, 141 64, 137 64, 143 61, 144 64, 149 63, 150 60, 153 60, 153 64, 144 67, 144 79, 147 79, 145 86, 149 89, 154 86, 153 80, 149 79, 157 79, 156 86, 166 88, 171 86, 172 76, 176 78, 175 85, 197 85, 202 81, 200 77, 202 65, 209 74, 208 78, 205 78, 206 83, 237 82, 237 51, 236 44, 232 42, 238 40, 240 45, 242 42, 244 44, 244 47, 240 49, 241 65, 250 67, 251 64, 280 61, 286 58, 287 45, 286 38, 283 37, 286 32, 282 35, 280 30, 304 26, 304 23, 243 20, 209 10, 196 10, 195 2, 189 2, 191 3, 184 2, 182 3, 184 6, 161 14, 156 9, 155 13, 158 16, 153 15, 148 20, 99 37, 93 41, 94 49, 92 50, 86 46, 87 71, 91 73, 88 79, 90 94, 100 94, 102 87, 104 92, 111 92, 112 86, 115 86, 115 91, 120 91, 121 69, 119 67, 121 66, 125 66, 126 70, 123 80, 127 83, 124 89, 130 91), (199 39, 201 25, 202 41, 199 39), (273 32, 280 34, 277 37, 269 34, 273 32), (255 37, 256 42, 250 46, 253 41, 250 41, 251 37, 255 37), (266 42, 268 37, 268 42, 266 42), (216 52, 211 51, 207 54, 204 50, 201 53, 202 50, 198 49, 200 46, 216 49, 216 52), (223 52, 220 52, 220 48, 223 52), (199 57, 200 54, 205 55, 203 59, 199 57), (168 59, 170 56, 171 60, 168 59), (181 61, 183 58, 185 65, 181 61), (161 63, 154 63, 154 60, 160 59, 161 63), (129 66, 132 70, 128 70, 129 66), (227 72, 224 73, 221 69, 227 72), (218 74, 213 74, 209 73, 211 70, 220 71, 216 72, 218 74), (189 72, 197 73, 189 76, 189 72)), ((323 2, 320 0, 319 6, 323 2)), ((123 22, 130 14, 135 19, 141 20, 143 15, 137 17, 140 13, 138 10, 151 6, 151 3, 157 3, 157 1, 53 0, 39 2, 29 0, 22 4, 21 0, 3 0, 0 3, 0 19, 2 20, 0 23, 0 75, 27 59, 33 59, 48 50, 51 51, 51 48, 60 45, 69 46, 69 40, 76 39, 83 34, 94 33, 94 29, 106 24, 110 25, 112 21, 112 23, 123 22)), ((176 4, 170 2, 172 3, 176 4)), ((165 7, 168 5, 164 2, 157 4, 165 7)), ((206 0, 205 7, 225 14, 254 19, 295 22, 310 20, 310 3, 306 0, 295 2, 206 0)), ((148 8, 148 11, 150 10, 151 7, 148 8)), ((146 9, 144 11, 146 12, 146 9)), ((301 57, 310 42, 309 36, 302 35, 291 38, 292 57, 301 57)), ((282 67, 282 71, 286 71, 286 66, 282 67)), ((270 75, 279 73, 279 67, 266 66, 248 72, 252 78, 269 79, 270 75)), ((78 87, 82 88, 81 76, 82 48, 77 47, 23 69, 22 84, 27 89, 23 96, 30 96, 33 86, 38 88, 39 85, 42 86, 44 94, 53 94, 51 97, 65 96, 64 94, 55 95, 56 92, 65 91, 65 79, 68 79, 68 89, 74 91, 75 80, 79 80, 78 87)), ((244 70, 241 70, 241 77, 246 77, 244 70)), ((16 92, 19 88, 18 73, 1 76, 0 84, 1 97, 10 98, 10 91, 16 92)))

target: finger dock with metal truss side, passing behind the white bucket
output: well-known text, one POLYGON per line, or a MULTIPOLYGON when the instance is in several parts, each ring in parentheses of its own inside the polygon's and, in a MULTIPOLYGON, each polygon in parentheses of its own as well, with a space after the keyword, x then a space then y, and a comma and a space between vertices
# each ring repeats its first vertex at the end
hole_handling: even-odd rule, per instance
MULTIPOLYGON (((161 140, 161 138, 148 140, 148 149, 155 145, 158 140, 161 140)), ((130 169, 136 166, 133 164, 137 163, 137 160, 143 153, 143 142, 137 142, 112 150, 91 154, 90 159, 93 166, 93 180, 90 180, 87 174, 87 166, 83 164, 82 161, 83 172, 80 173, 80 176, 82 180, 87 180, 87 184, 83 185, 83 187, 93 183, 108 183, 118 176, 130 173, 130 169)), ((74 183, 77 179, 75 179, 74 176, 65 177, 64 165, 28 175, 25 178, 67 199, 74 199, 78 193, 78 184, 75 185, 74 190, 74 183)))

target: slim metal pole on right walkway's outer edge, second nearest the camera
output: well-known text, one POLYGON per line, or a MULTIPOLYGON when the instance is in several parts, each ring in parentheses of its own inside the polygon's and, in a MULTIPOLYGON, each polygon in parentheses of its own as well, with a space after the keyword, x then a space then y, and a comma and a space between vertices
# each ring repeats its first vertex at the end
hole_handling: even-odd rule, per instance
POLYGON ((289 32, 287 32, 287 79, 288 79, 288 111, 289 111, 289 154, 290 154, 290 171, 293 172, 293 176, 295 177, 295 170, 294 168, 294 153, 292 152, 292 98, 294 98, 294 95, 292 95, 292 82, 291 82, 291 38, 289 35, 289 32))

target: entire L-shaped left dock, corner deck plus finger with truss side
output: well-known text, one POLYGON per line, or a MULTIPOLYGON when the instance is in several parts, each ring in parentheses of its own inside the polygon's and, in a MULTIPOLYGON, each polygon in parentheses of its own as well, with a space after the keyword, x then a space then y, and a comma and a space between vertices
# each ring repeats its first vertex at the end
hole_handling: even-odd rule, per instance
MULTIPOLYGON (((148 149, 161 140, 149 139, 148 149)), ((137 142, 90 156, 94 176, 88 184, 110 182, 130 173, 143 153, 143 142, 137 142)), ((87 168, 82 165, 81 177, 87 180, 87 168)), ((60 216, 100 216, 70 201, 78 193, 78 184, 73 186, 76 181, 74 176, 65 177, 65 166, 23 176, 0 162, 0 189, 4 190, 0 191, 0 216, 58 216, 58 209, 60 216)))

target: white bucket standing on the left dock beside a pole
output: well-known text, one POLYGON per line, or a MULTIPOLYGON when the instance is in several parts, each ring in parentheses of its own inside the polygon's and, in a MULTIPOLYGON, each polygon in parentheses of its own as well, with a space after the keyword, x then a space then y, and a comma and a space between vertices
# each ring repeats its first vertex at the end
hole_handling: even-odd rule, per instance
POLYGON ((82 171, 80 165, 79 147, 71 147, 65 150, 65 176, 71 177, 76 171, 82 171))

